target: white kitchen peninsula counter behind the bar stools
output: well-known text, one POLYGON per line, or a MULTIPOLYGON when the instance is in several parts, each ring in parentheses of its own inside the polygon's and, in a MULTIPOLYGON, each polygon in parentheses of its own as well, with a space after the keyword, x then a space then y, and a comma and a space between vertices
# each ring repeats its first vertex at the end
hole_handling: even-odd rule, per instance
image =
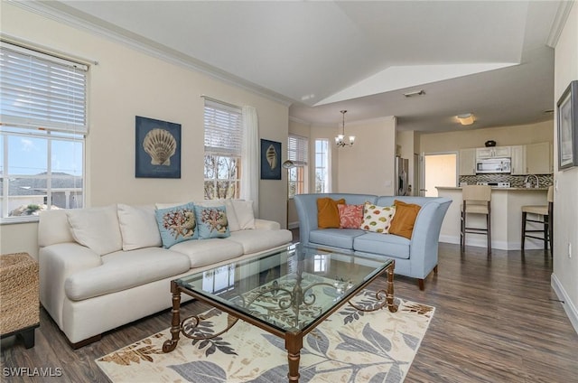
MULTIPOLYGON (((452 199, 452 204, 443 220, 440 242, 460 243, 461 187, 438 186, 440 197, 452 199)), ((548 188, 491 188, 491 247, 501 250, 519 250, 522 235, 522 206, 547 205, 548 188)), ((468 215, 468 226, 485 228, 486 218, 482 214, 468 215)), ((540 225, 541 226, 541 225, 540 225)), ((541 229, 536 226, 536 229, 541 229)), ((528 229, 530 224, 528 224, 528 229)), ((486 247, 486 236, 468 234, 467 246, 486 247)), ((544 242, 527 238, 526 248, 544 248, 544 242)))

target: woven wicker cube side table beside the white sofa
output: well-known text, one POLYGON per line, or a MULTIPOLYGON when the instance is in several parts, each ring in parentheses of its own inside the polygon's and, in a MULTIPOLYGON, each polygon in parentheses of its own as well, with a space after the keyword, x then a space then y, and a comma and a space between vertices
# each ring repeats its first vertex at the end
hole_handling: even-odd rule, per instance
POLYGON ((0 334, 39 322, 38 262, 27 253, 0 256, 0 334))

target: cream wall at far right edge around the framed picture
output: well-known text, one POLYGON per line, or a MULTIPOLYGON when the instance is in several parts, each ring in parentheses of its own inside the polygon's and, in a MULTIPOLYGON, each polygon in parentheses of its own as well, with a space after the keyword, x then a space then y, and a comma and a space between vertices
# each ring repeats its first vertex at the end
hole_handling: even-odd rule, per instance
MULTIPOLYGON (((574 3, 555 46, 554 105, 570 81, 578 79, 578 5, 574 3)), ((576 107, 574 105, 574 107, 576 107)), ((555 170, 558 163, 555 132, 555 170)), ((554 273, 552 285, 578 332, 578 167, 554 173, 554 273), (569 257, 568 246, 572 247, 569 257)))

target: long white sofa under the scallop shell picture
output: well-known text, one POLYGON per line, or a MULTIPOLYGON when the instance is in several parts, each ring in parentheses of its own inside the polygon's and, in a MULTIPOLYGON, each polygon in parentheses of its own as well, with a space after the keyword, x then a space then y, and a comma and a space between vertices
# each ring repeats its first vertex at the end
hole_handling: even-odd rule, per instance
POLYGON ((293 239, 277 222, 254 219, 250 202, 197 205, 211 204, 226 206, 228 237, 170 248, 163 248, 154 205, 42 211, 40 299, 73 348, 171 307, 172 279, 284 248, 293 239))

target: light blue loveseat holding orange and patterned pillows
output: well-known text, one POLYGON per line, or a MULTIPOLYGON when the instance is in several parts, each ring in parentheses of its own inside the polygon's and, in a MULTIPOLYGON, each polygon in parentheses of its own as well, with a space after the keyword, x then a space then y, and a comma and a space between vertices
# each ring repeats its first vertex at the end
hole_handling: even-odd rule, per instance
POLYGON ((396 274, 417 278, 420 290, 424 290, 424 279, 432 271, 437 273, 440 229, 452 200, 442 197, 378 197, 369 194, 323 193, 298 194, 294 201, 299 216, 300 241, 303 245, 346 249, 366 257, 393 258, 396 260, 396 274), (415 219, 411 239, 362 229, 319 229, 317 199, 323 197, 344 199, 349 205, 360 205, 368 201, 378 206, 391 206, 398 200, 415 203, 420 205, 421 209, 415 219))

